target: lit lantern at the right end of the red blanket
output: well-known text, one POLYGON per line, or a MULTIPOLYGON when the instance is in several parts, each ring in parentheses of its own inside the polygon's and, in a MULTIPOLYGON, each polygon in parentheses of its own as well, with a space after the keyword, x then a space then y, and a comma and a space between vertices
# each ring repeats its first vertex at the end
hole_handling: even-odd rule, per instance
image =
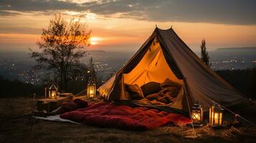
POLYGON ((191 118, 193 123, 202 124, 203 121, 203 108, 200 104, 194 104, 191 110, 191 118))

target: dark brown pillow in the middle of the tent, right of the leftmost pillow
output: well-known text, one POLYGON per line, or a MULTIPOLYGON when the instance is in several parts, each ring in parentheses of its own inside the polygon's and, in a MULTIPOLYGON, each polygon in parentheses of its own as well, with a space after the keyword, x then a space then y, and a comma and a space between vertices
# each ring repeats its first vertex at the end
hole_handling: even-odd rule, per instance
POLYGON ((160 87, 160 83, 148 82, 147 84, 144 84, 143 86, 141 86, 141 89, 143 91, 143 95, 146 97, 149 94, 160 92, 161 87, 160 87))

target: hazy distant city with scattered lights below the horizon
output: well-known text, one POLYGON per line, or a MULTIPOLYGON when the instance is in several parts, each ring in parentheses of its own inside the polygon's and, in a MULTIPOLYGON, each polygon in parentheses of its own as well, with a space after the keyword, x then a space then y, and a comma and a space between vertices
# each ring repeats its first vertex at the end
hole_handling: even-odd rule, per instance
MULTIPOLYGON (((200 52, 195 52, 200 56, 200 52)), ((105 82, 118 69, 120 69, 128 59, 133 56, 133 52, 113 52, 113 51, 87 51, 87 55, 82 62, 88 64, 90 57, 93 57, 95 71, 101 82, 105 82)), ((247 69, 256 66, 256 47, 243 48, 219 48, 209 51, 211 68, 214 70, 234 70, 247 69)), ((25 51, 0 51, 0 76, 6 79, 18 79, 30 84, 42 82, 43 71, 36 71, 34 59, 29 58, 29 53, 25 51)))

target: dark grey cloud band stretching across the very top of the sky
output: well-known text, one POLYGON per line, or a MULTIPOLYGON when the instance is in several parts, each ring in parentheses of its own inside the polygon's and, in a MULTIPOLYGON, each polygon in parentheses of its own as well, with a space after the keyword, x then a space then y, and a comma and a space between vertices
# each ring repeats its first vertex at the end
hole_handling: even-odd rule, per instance
POLYGON ((58 0, 1 0, 3 11, 78 11, 109 17, 148 21, 183 21, 220 24, 256 24, 254 0, 108 0, 108 1, 58 1, 58 0))

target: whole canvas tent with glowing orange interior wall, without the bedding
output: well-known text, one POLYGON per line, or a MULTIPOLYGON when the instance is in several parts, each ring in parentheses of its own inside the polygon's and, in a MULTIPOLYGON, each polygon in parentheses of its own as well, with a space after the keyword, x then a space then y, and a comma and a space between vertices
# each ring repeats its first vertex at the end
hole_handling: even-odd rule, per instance
POLYGON ((232 107, 247 102, 243 94, 204 64, 174 29, 156 29, 136 54, 111 79, 98 88, 100 95, 110 101, 125 100, 124 84, 163 82, 169 78, 183 84, 174 109, 188 110, 195 102, 204 111, 213 102, 232 107))

